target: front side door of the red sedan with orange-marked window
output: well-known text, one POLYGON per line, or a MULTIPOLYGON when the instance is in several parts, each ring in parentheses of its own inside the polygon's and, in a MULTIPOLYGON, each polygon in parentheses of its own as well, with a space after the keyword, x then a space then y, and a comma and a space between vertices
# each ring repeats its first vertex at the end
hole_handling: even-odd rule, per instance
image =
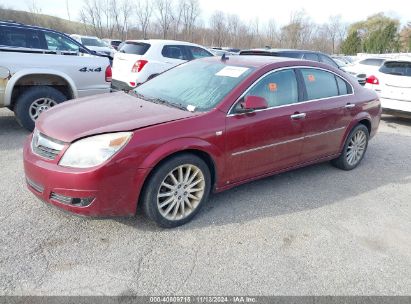
POLYGON ((239 99, 226 121, 227 171, 231 182, 291 167, 299 162, 303 125, 295 71, 267 74, 239 99), (267 109, 238 113, 246 96, 266 99, 267 109))

